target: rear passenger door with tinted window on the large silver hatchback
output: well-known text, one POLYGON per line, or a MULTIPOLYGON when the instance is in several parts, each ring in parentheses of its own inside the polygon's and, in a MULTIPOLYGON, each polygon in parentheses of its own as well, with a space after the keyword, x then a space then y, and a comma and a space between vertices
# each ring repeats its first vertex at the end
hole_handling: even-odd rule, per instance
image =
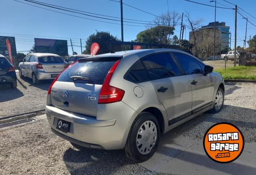
POLYGON ((142 58, 149 72, 151 83, 159 101, 165 107, 169 125, 173 119, 191 115, 192 92, 189 79, 178 68, 169 52, 152 54, 142 58))

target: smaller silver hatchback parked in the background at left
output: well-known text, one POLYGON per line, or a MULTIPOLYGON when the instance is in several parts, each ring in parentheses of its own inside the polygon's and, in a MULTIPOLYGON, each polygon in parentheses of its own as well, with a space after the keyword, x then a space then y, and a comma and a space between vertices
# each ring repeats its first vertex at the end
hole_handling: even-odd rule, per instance
POLYGON ((55 79, 68 66, 59 55, 52 53, 30 53, 20 61, 19 77, 31 78, 34 85, 42 79, 55 79))

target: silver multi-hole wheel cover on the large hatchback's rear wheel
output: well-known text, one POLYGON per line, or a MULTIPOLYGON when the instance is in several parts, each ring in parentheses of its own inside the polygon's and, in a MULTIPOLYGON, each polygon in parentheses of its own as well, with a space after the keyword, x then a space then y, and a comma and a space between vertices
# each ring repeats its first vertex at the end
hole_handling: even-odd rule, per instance
POLYGON ((148 154, 155 146, 157 129, 153 121, 145 121, 137 132, 137 149, 141 154, 148 154))

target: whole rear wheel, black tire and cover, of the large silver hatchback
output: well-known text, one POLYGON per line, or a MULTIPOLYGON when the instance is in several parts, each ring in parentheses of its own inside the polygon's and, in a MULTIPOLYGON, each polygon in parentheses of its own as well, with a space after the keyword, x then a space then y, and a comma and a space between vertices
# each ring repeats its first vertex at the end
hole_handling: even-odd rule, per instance
POLYGON ((125 155, 132 162, 148 160, 157 149, 160 127, 152 113, 140 113, 131 125, 125 144, 125 155), (140 135, 145 132, 144 135, 140 135), (141 141, 141 142, 140 142, 141 141))

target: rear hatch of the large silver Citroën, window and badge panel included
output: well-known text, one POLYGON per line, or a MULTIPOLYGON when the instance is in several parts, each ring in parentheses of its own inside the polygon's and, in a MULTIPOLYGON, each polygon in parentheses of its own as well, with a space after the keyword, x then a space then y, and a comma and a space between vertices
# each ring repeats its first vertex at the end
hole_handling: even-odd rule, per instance
POLYGON ((51 90, 52 105, 96 117, 98 97, 108 71, 120 57, 83 58, 60 74, 51 90))

